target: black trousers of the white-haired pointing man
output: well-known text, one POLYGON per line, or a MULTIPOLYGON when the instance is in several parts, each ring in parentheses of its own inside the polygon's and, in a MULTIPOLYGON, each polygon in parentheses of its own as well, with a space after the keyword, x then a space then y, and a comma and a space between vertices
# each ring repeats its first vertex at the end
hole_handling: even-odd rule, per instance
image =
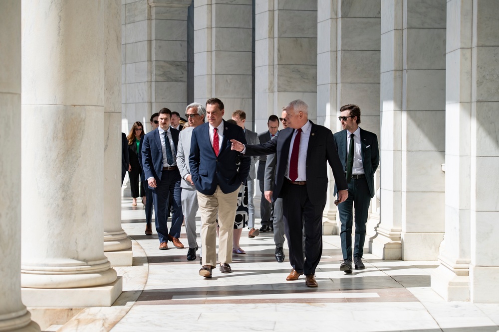
POLYGON ((284 182, 282 186, 282 213, 289 263, 298 273, 315 274, 322 254, 322 212, 324 205, 313 205, 308 199, 307 187, 284 182), (303 257, 303 230, 305 257, 303 257))

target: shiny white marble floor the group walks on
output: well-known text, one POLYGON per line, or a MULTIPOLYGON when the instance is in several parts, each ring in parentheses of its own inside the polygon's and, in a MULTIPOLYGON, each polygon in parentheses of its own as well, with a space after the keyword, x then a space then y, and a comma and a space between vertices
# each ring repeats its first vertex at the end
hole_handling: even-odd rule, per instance
MULTIPOLYGON (((122 220, 134 258, 132 267, 116 268, 124 281, 120 298, 45 331, 499 331, 499 304, 446 302, 432 291, 436 262, 383 261, 366 253, 366 269, 346 275, 338 269, 339 236, 328 235, 316 271, 319 287, 307 288, 303 276, 285 281, 287 248, 278 263, 272 233, 249 239, 245 230, 247 254, 234 255, 233 273, 214 269, 213 278, 204 279, 199 260, 187 261, 187 248, 170 242, 173 248, 158 250, 156 233, 144 235, 141 206, 123 200, 122 220)), ((181 240, 187 244, 184 228, 181 240)))

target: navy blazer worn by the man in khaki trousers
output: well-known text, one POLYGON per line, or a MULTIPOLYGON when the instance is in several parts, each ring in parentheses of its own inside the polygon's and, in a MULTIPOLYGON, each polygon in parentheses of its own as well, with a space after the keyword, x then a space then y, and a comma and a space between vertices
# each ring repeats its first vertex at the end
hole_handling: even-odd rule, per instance
MULTIPOLYGON (((231 150, 231 139, 246 143, 243 129, 224 121, 224 139, 219 155, 216 156, 210 142, 209 124, 204 123, 192 131, 189 166, 196 190, 205 195, 213 195, 217 186, 224 194, 239 190, 246 183, 250 172, 250 158, 243 158, 238 151, 231 150), (241 158, 241 165, 236 165, 241 158)), ((236 209, 236 207, 234 207, 236 209)))

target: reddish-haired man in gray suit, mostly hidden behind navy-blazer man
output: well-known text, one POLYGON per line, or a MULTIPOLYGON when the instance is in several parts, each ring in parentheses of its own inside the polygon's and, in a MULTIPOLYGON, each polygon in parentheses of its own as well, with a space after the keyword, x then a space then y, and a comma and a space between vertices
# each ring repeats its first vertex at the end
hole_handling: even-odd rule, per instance
MULTIPOLYGON (((243 128, 246 136, 246 141, 248 144, 258 144, 258 134, 256 132, 251 131, 248 128, 245 128, 245 122, 246 122, 246 113, 245 111, 242 110, 237 110, 232 113, 232 119, 236 121, 236 123, 243 128)), ((251 167, 250 167, 250 173, 248 174, 248 211, 249 211, 249 221, 248 221, 248 228, 250 228, 250 231, 248 232, 248 237, 253 238, 259 234, 259 230, 254 228, 254 203, 253 203, 253 196, 254 196, 254 179, 256 178, 256 161, 258 160, 258 157, 251 157, 251 167)))

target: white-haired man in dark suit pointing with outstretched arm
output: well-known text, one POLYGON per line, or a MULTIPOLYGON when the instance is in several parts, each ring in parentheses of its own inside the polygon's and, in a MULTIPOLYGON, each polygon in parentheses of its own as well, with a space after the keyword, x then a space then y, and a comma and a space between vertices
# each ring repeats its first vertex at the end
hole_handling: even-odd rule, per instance
POLYGON ((276 153, 276 173, 272 201, 282 198, 284 227, 293 269, 287 281, 305 274, 305 285, 317 287, 315 269, 322 254, 322 212, 326 205, 327 164, 340 191, 338 201, 347 196, 347 183, 338 158, 333 133, 308 120, 308 106, 295 100, 286 107, 288 127, 277 138, 259 145, 233 141, 233 149, 247 156, 276 153), (304 224, 303 224, 304 223, 304 224), (305 257, 303 257, 303 226, 305 257))

